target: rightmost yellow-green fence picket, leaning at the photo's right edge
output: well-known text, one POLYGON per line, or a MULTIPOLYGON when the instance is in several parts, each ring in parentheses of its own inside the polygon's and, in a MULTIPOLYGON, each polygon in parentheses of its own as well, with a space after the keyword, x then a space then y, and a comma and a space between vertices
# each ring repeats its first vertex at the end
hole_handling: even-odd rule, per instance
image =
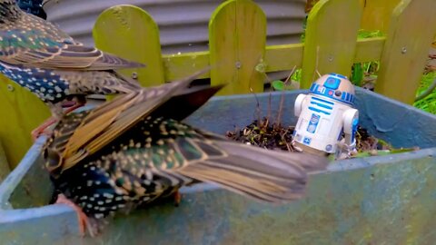
POLYGON ((413 103, 436 34, 436 1, 401 0, 391 16, 375 91, 413 103))

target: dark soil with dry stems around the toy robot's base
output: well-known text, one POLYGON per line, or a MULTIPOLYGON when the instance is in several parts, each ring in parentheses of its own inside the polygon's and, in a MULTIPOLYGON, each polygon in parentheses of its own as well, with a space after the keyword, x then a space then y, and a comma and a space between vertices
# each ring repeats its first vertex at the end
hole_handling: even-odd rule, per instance
MULTIPOLYGON (((282 126, 271 123, 266 117, 259 123, 253 121, 243 129, 235 129, 226 132, 227 138, 235 142, 243 142, 262 147, 269 150, 280 149, 283 151, 297 152, 292 147, 292 133, 294 126, 282 126)), ((382 155, 398 152, 410 152, 418 148, 394 149, 388 142, 384 142, 372 136, 366 129, 358 127, 356 134, 357 154, 352 157, 363 157, 370 155, 382 155)))

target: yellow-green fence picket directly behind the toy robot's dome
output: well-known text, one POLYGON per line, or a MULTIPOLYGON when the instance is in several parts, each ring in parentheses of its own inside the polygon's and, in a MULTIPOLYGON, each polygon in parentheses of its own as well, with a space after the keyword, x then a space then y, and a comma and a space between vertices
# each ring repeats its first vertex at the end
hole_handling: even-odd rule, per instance
POLYGON ((359 0, 321 0, 307 19, 302 56, 301 88, 309 88, 321 73, 349 76, 361 23, 359 0))

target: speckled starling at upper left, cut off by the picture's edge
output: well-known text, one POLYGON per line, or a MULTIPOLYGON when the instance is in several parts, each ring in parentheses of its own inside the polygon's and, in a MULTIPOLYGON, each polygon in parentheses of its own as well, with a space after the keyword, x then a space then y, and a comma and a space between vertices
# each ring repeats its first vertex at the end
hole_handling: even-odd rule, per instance
POLYGON ((61 29, 0 0, 0 72, 47 103, 58 119, 61 102, 86 94, 129 93, 140 88, 114 69, 143 67, 86 47, 61 29))

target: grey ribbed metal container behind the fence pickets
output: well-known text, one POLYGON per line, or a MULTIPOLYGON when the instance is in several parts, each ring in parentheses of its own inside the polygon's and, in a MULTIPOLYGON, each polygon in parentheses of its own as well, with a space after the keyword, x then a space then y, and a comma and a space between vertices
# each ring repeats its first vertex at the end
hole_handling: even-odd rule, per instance
MULTIPOLYGON (((113 5, 136 5, 159 26, 163 54, 208 49, 208 24, 218 0, 45 0, 47 20, 84 44, 94 44, 98 15, 113 5)), ((267 16, 267 44, 299 43, 305 0, 254 1, 267 16)))

